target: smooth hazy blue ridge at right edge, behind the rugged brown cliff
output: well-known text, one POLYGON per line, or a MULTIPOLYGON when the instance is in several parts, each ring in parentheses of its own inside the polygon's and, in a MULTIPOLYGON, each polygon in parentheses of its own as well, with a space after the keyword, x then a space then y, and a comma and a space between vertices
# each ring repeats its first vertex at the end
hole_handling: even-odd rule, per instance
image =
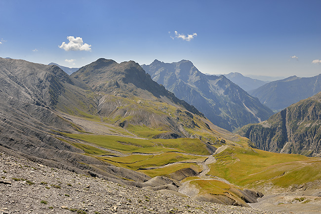
POLYGON ((313 77, 290 76, 269 82, 248 93, 273 110, 281 110, 321 91, 321 74, 313 77))

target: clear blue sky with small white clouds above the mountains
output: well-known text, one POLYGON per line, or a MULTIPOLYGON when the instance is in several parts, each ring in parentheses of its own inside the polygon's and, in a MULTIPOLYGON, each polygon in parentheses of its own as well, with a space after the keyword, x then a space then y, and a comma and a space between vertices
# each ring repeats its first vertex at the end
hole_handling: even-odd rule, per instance
POLYGON ((186 59, 203 73, 313 76, 320 11, 321 0, 0 0, 0 57, 67 67, 186 59))

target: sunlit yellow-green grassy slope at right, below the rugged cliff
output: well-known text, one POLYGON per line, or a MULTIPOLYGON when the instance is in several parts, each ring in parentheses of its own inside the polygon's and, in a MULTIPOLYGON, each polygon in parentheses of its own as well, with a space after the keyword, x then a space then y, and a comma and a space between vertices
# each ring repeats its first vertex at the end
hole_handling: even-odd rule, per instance
POLYGON ((208 174, 240 186, 296 188, 321 179, 321 158, 239 146, 228 146, 214 156, 217 161, 208 174))

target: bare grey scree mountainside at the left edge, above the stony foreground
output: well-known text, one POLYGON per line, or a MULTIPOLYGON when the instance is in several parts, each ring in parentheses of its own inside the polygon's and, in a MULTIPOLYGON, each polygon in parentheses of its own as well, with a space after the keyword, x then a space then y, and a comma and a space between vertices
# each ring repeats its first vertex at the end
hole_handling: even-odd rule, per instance
POLYGON ((90 109, 83 107, 79 100, 88 105, 95 104, 86 97, 89 92, 83 83, 57 66, 14 59, 0 58, 0 76, 0 146, 75 172, 87 170, 120 182, 121 179, 116 176, 120 173, 138 178, 133 179, 136 181, 148 179, 143 174, 115 168, 94 157, 85 156, 83 150, 56 135, 79 130, 76 124, 56 111, 59 107, 90 109), (92 168, 89 164, 104 170, 92 168))

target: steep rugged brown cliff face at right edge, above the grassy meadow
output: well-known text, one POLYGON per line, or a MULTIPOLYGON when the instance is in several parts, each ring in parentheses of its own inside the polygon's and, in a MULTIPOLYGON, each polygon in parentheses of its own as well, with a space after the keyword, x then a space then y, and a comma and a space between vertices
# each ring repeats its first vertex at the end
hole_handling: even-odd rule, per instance
POLYGON ((239 133, 266 151, 321 156, 321 93, 281 110, 267 121, 248 124, 239 133))

